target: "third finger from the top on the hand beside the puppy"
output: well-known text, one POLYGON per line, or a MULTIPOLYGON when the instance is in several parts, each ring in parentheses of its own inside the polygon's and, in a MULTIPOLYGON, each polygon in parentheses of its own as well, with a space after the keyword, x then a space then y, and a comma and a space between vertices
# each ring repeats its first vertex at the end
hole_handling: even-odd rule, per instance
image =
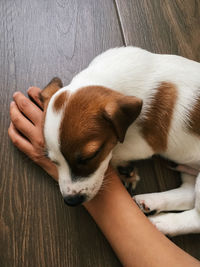
POLYGON ((34 139, 35 126, 23 116, 16 103, 10 103, 10 118, 15 128, 25 135, 30 141, 34 139))

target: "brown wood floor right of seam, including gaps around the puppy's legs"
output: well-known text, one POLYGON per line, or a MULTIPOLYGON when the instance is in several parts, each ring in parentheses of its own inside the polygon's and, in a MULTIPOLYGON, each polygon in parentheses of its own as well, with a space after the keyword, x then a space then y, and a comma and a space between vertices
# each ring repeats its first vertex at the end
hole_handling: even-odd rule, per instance
MULTIPOLYGON (((115 0, 126 45, 155 53, 177 54, 200 61, 199 0, 115 0)), ((141 181, 136 193, 164 191, 180 184, 179 175, 167 169, 167 162, 154 157, 141 162, 141 181), (146 164, 152 164, 150 166, 146 164)), ((200 235, 172 239, 200 259, 200 235)))

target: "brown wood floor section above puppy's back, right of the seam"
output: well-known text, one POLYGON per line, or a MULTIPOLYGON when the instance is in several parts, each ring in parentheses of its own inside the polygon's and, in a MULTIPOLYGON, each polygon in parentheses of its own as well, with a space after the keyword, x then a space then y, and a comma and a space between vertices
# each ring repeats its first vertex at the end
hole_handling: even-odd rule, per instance
POLYGON ((200 60, 199 0, 115 0, 126 45, 200 60))

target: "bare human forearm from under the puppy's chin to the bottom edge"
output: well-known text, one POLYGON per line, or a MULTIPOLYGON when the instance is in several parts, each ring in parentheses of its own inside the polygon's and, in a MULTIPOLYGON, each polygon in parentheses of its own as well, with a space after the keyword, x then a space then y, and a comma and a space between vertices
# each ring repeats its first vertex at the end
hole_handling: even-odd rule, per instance
POLYGON ((200 266, 149 222, 115 173, 109 175, 107 188, 85 207, 123 266, 200 266))

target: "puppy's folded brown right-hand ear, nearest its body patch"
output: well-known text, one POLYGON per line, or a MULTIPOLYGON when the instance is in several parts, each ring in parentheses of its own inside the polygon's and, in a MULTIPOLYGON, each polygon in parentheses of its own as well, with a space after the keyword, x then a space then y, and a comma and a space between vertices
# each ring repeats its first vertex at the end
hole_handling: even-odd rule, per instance
POLYGON ((106 104, 103 117, 109 121, 120 143, 123 143, 128 127, 142 109, 142 100, 134 96, 121 96, 106 104))

